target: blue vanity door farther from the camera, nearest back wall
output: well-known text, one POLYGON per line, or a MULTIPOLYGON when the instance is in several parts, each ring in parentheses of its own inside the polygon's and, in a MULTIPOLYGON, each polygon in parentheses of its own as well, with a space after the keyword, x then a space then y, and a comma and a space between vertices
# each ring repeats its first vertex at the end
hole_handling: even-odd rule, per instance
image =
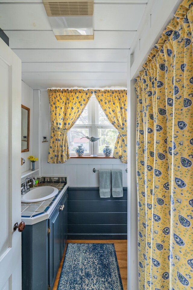
POLYGON ((62 198, 62 205, 64 205, 64 209, 61 212, 61 259, 64 253, 66 240, 67 240, 67 192, 65 192, 64 197, 62 198))

